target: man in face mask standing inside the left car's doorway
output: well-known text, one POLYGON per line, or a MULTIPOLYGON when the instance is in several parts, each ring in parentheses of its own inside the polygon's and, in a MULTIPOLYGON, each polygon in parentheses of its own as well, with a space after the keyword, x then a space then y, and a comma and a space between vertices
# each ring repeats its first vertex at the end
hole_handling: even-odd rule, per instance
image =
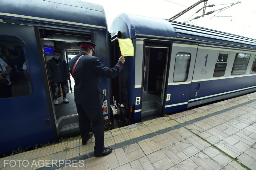
POLYGON ((58 92, 60 85, 63 93, 63 102, 68 103, 67 100, 67 81, 69 80, 68 65, 65 60, 60 58, 60 51, 53 51, 53 58, 47 61, 47 68, 50 82, 53 83, 53 99, 54 105, 58 105, 58 92))

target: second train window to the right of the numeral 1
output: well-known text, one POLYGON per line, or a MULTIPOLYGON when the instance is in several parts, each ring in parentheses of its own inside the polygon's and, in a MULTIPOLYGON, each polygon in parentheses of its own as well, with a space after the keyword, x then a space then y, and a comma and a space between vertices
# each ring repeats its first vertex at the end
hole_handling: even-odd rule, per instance
POLYGON ((231 75, 245 74, 251 54, 236 53, 231 75))

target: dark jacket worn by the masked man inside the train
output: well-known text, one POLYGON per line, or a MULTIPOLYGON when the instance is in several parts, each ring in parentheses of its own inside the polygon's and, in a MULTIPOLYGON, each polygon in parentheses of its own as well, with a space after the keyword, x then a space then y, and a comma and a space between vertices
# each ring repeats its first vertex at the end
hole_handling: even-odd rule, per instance
POLYGON ((69 77, 68 65, 65 60, 60 59, 58 64, 53 58, 47 61, 49 78, 52 81, 64 81, 69 77))

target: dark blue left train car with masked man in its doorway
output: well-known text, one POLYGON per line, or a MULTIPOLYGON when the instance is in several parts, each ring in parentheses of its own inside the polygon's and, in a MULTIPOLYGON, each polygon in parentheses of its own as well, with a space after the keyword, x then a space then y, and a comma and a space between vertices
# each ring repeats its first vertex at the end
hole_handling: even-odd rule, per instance
MULTIPOLYGON (((0 62, 12 67, 12 96, 0 97, 1 155, 79 134, 72 77, 67 82, 69 103, 62 103, 60 89, 59 105, 54 106, 46 62, 53 50, 60 50, 68 63, 79 53, 77 42, 91 41, 97 44, 96 56, 108 66, 109 37, 101 5, 79 0, 1 0, 0 62)), ((112 101, 109 86, 110 81, 102 77, 105 119, 109 119, 112 101)))

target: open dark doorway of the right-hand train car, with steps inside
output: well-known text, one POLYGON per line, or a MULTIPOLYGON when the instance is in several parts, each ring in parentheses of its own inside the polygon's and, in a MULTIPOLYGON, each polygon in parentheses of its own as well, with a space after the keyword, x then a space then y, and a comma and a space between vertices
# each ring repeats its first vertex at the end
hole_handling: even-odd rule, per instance
POLYGON ((151 119, 162 113, 170 46, 171 43, 145 43, 141 120, 151 119))

